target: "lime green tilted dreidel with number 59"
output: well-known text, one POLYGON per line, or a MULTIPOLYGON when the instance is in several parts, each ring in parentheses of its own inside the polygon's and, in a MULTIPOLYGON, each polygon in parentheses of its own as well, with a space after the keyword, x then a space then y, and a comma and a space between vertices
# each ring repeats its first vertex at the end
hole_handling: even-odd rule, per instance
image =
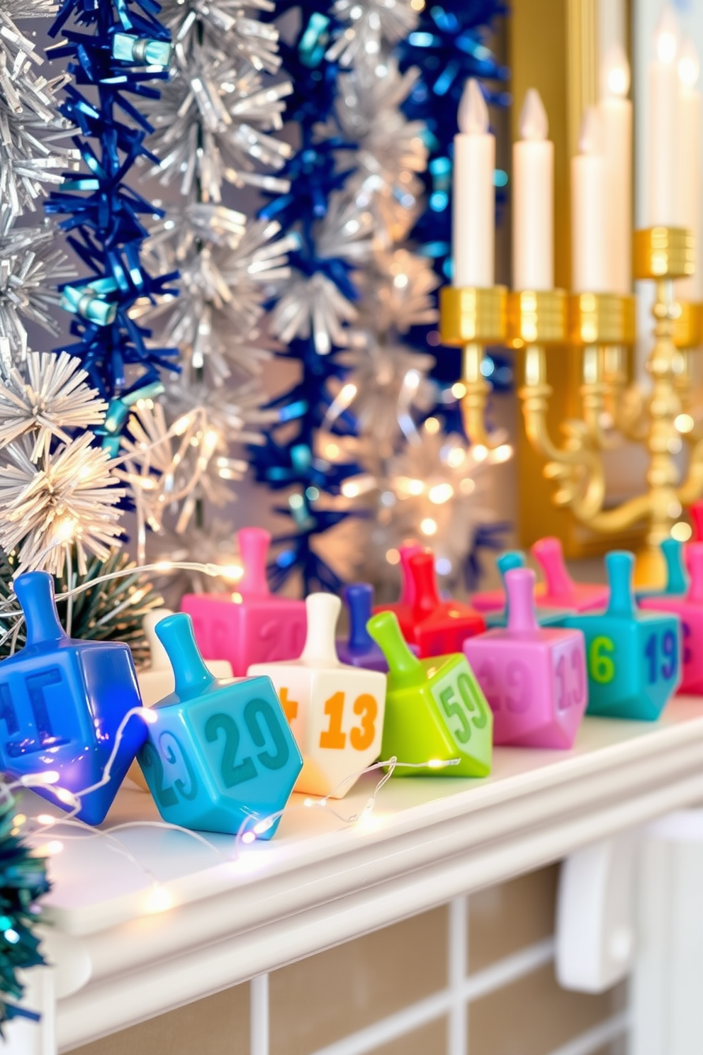
POLYGON ((486 776, 491 768, 493 715, 466 656, 417 659, 393 612, 374 615, 369 633, 386 654, 390 670, 382 755, 422 767, 399 766, 395 773, 486 776), (450 760, 457 764, 437 768, 437 763, 450 760))

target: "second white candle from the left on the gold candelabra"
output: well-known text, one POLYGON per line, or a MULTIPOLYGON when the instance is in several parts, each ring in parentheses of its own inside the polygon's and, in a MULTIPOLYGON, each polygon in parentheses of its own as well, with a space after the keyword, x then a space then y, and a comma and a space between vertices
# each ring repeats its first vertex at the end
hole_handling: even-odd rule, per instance
POLYGON ((554 145, 547 112, 535 89, 525 96, 521 138, 512 148, 512 285, 554 286, 554 145))

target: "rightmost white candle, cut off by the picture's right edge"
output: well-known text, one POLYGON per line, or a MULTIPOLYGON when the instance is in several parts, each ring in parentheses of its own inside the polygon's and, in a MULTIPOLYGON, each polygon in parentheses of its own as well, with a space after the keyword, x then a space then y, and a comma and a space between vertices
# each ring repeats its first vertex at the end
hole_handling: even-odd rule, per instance
MULTIPOLYGON (((692 41, 686 40, 679 54, 679 118, 677 135, 677 204, 679 223, 696 235, 696 252, 701 236, 701 93, 698 83, 698 55, 692 41)), ((683 301, 703 300, 702 271, 677 283, 677 296, 683 301)))

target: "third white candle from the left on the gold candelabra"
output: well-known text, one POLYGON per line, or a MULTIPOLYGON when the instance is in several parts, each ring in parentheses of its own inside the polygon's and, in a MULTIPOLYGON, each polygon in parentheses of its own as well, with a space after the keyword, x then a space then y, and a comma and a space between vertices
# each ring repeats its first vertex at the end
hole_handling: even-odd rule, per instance
POLYGON ((571 158, 571 288, 606 293, 608 268, 607 189, 598 109, 584 114, 579 151, 571 158))

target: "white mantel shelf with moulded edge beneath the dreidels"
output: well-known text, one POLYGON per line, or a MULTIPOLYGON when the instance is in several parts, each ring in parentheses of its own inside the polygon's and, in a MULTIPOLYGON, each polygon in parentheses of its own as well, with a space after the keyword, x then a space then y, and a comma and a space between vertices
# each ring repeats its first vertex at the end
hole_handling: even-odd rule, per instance
MULTIPOLYGON (((335 808, 360 810, 374 784, 335 808)), ((360 824, 300 806, 236 860, 222 857, 232 839, 212 838, 215 850, 153 827, 119 832, 157 895, 106 840, 61 829, 46 899, 59 1049, 701 801, 703 699, 679 697, 652 725, 586 718, 570 752, 497 749, 488 780, 393 778, 360 824), (172 907, 154 912, 155 897, 172 907)), ((156 819, 150 797, 123 790, 104 828, 156 819)))

